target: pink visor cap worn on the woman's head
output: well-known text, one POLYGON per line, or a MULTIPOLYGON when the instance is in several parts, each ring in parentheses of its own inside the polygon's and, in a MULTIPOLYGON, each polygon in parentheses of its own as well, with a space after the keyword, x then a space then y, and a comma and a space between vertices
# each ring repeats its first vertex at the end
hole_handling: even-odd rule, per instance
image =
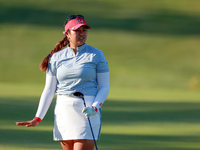
POLYGON ((91 27, 86 24, 86 21, 82 18, 76 18, 76 19, 72 19, 70 20, 66 25, 65 25, 65 31, 63 32, 63 34, 65 34, 67 32, 67 30, 76 30, 81 26, 87 26, 88 29, 90 29, 91 27))

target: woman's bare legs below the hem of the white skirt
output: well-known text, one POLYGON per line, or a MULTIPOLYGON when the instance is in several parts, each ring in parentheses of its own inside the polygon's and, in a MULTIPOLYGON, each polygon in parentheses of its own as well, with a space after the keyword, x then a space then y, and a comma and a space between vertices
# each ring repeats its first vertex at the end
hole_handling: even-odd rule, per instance
POLYGON ((74 150, 93 150, 93 140, 74 140, 74 150))

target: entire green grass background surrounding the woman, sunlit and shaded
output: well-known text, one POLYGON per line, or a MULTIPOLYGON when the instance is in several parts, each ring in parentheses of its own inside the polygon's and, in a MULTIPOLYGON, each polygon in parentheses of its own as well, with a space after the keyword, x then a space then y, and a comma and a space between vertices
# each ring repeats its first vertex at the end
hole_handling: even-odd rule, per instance
POLYGON ((200 1, 0 0, 0 150, 59 150, 55 99, 39 126, 42 59, 70 14, 92 27, 87 44, 110 68, 99 150, 200 150, 200 1))

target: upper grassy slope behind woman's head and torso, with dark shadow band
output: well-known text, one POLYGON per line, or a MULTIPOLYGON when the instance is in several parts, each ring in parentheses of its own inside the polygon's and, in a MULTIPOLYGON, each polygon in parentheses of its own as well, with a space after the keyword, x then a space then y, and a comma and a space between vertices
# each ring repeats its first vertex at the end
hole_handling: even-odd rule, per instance
POLYGON ((63 38, 66 16, 80 13, 92 27, 87 43, 108 59, 111 85, 199 88, 198 1, 61 2, 0 1, 0 82, 43 83, 40 62, 63 38))

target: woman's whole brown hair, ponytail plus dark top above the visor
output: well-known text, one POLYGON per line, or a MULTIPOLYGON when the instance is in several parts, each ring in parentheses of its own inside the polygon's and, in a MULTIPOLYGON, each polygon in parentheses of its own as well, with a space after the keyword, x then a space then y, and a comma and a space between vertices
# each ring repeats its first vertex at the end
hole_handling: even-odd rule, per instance
MULTIPOLYGON (((65 22, 65 25, 72 19, 76 19, 76 18, 83 18, 84 19, 84 16, 82 15, 70 15, 67 17, 66 19, 66 22, 65 22)), ((67 32, 70 32, 69 30, 67 32)), ((65 35, 65 37, 59 41, 56 46, 54 47, 54 49, 52 49, 50 51, 50 53, 42 60, 42 62, 40 63, 40 70, 45 72, 47 70, 47 67, 48 67, 48 63, 49 63, 49 59, 51 58, 51 56, 62 50, 63 47, 67 46, 69 44, 69 40, 67 38, 67 36, 65 35)))

